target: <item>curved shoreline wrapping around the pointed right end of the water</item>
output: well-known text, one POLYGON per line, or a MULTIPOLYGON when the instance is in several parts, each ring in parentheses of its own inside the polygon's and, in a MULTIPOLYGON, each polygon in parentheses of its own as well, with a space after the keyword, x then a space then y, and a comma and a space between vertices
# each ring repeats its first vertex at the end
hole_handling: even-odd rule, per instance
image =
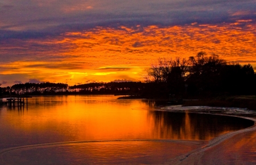
MULTIPOLYGON (((198 110, 198 106, 189 106, 189 107, 182 107, 181 105, 172 105, 168 107, 163 107, 163 111, 170 111, 170 112, 184 112, 189 111, 189 113, 207 113, 211 115, 225 115, 225 116, 232 116, 232 117, 241 117, 243 119, 254 121, 254 125, 250 126, 249 128, 237 130, 235 132, 229 132, 226 134, 222 134, 216 138, 211 139, 205 146, 199 147, 196 150, 189 151, 187 154, 179 155, 177 158, 170 160, 169 163, 171 164, 236 164, 236 162, 240 162, 242 164, 251 164, 254 162, 253 157, 243 159, 248 157, 249 154, 255 154, 254 149, 251 149, 255 146, 255 141, 250 141, 248 138, 251 138, 251 134, 256 137, 256 113, 254 111, 248 111, 246 109, 235 108, 233 110, 239 111, 238 113, 232 113, 232 108, 219 109, 221 107, 204 107, 200 106, 201 109, 198 110), (180 109, 181 108, 181 109, 180 109), (205 109, 204 108, 209 108, 205 109), (197 109, 197 110, 196 110, 197 109), (204 109, 204 110, 203 110, 204 109), (248 117, 251 115, 251 117, 248 117), (242 143, 246 141, 246 143, 242 143), (228 143, 228 145, 226 145, 228 143), (232 144, 234 145, 232 146, 232 144), (239 159, 236 158, 235 162, 233 159, 226 158, 225 155, 218 154, 218 152, 226 153, 227 155, 234 154, 233 151, 236 149, 236 144, 240 144, 241 148, 244 149, 242 151, 238 150, 237 155, 239 155, 239 159), (226 145, 227 147, 223 147, 226 145), (233 149, 232 149, 233 148, 233 149), (245 150, 246 149, 246 150, 245 150), (232 152, 227 152, 232 151, 232 152), (216 156, 218 154, 218 156, 216 156)), ((223 107, 222 107, 223 108, 223 107)))

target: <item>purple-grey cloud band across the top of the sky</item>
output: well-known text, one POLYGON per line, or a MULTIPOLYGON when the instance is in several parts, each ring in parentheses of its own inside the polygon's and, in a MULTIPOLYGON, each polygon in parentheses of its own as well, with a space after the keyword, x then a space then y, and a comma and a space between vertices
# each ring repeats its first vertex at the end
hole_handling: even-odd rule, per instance
POLYGON ((255 21, 255 1, 2 1, 0 40, 35 39, 97 26, 255 21), (4 33, 4 35, 3 35, 4 33))

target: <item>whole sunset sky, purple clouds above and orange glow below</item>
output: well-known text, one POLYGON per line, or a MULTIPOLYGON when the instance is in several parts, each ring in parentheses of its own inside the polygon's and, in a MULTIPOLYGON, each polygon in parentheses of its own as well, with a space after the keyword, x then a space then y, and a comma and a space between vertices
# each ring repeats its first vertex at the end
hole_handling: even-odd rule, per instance
POLYGON ((0 83, 143 81, 200 51, 255 67, 255 35, 255 0, 0 0, 0 83))

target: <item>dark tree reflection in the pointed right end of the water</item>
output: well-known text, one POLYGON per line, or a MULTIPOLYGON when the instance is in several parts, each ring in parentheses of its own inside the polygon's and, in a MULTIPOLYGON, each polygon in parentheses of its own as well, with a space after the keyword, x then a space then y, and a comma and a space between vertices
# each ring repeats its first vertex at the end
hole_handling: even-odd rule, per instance
POLYGON ((200 113, 149 111, 154 121, 154 136, 162 139, 209 140, 220 134, 254 125, 251 120, 239 117, 200 113))

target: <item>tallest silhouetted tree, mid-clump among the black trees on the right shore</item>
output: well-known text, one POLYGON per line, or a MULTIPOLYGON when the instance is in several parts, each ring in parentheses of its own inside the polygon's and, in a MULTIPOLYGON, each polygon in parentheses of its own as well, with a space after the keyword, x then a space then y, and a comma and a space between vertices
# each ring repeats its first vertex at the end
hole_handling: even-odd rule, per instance
POLYGON ((221 70, 226 65, 226 61, 219 58, 217 54, 208 56, 205 52, 199 52, 196 57, 189 57, 189 62, 186 83, 191 94, 212 95, 220 91, 218 86, 221 70))

